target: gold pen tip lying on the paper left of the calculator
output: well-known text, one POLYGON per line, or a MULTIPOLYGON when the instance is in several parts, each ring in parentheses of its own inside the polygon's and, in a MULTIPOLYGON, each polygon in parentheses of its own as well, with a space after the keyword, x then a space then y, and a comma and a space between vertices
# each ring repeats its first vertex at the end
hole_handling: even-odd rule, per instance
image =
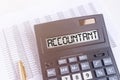
POLYGON ((20 80, 27 80, 25 67, 21 60, 18 62, 18 67, 19 67, 20 80))

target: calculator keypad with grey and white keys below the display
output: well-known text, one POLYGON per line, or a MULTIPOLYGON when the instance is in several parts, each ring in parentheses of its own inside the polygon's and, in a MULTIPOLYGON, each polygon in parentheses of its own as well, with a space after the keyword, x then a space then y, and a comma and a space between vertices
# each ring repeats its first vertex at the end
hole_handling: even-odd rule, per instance
POLYGON ((110 57, 88 61, 87 55, 58 60, 59 77, 56 69, 47 70, 48 80, 118 80, 110 57))

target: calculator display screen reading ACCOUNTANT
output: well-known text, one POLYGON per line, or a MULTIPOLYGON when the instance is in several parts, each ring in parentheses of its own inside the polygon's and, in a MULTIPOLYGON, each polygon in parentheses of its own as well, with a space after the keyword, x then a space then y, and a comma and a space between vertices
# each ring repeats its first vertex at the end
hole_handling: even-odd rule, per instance
POLYGON ((46 39, 46 43, 47 43, 47 48, 50 49, 55 47, 68 46, 72 44, 94 41, 98 39, 99 37, 97 30, 91 30, 91 31, 80 32, 70 35, 48 38, 46 39))

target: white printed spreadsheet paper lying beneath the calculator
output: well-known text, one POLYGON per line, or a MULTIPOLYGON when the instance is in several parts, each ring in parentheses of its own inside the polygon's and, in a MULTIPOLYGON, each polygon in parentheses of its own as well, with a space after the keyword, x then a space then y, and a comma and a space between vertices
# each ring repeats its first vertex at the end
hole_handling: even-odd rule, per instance
MULTIPOLYGON (((27 77, 29 80, 42 80, 40 62, 37 52, 34 25, 60 19, 92 15, 101 13, 93 3, 83 4, 64 12, 57 12, 42 18, 26 21, 21 24, 13 25, 9 28, 0 30, 0 65, 1 72, 5 72, 6 80, 19 80, 18 61, 22 60, 25 64, 27 77)), ((110 24, 107 24, 111 26, 110 24)), ((108 29, 110 43, 114 53, 115 44, 110 29, 108 29)))

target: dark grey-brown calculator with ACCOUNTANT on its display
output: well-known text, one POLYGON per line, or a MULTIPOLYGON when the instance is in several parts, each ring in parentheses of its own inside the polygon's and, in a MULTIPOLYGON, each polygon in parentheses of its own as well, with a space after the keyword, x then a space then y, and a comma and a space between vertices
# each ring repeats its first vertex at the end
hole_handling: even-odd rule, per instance
POLYGON ((43 80, 120 80, 102 14, 34 28, 43 80))

